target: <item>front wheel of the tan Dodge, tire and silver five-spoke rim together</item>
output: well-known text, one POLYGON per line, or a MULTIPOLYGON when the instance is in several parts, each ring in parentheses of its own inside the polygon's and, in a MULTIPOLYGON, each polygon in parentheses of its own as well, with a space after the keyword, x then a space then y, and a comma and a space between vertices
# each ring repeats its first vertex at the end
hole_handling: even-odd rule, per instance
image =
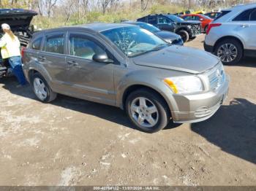
POLYGON ((166 127, 168 122, 170 122, 170 110, 165 101, 157 93, 146 88, 135 90, 128 95, 126 101, 126 112, 129 120, 131 120, 139 130, 146 133, 154 133, 162 130, 166 127), (145 105, 140 104, 143 103, 143 101, 140 101, 143 100, 143 98, 146 100, 146 108, 144 109, 143 106, 145 105), (140 117, 142 117, 142 120, 140 120, 141 123, 138 122, 140 117))

